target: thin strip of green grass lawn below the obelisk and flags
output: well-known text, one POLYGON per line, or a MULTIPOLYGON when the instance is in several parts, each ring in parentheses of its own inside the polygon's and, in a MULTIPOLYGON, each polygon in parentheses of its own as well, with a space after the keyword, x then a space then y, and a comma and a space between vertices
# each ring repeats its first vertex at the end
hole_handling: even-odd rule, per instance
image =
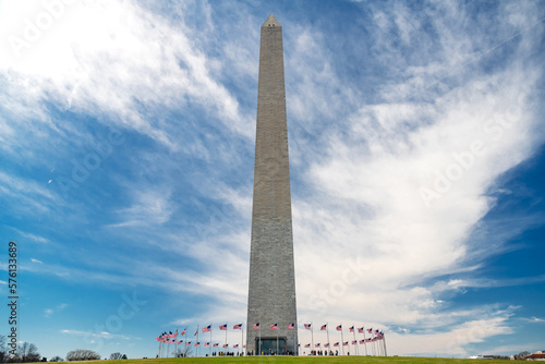
MULTIPOLYGON (((88 362, 85 362, 88 363, 88 362)), ((100 361, 105 364, 506 364, 501 360, 445 359, 414 356, 215 356, 178 359, 130 359, 124 361, 100 361)), ((83 364, 83 363, 82 363, 83 364)))

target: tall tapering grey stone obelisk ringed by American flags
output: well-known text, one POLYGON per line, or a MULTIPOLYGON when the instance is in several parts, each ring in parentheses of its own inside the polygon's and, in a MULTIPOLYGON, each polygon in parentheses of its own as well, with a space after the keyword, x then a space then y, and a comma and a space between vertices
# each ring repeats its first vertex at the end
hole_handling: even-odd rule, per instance
POLYGON ((255 355, 279 348, 280 354, 296 353, 282 27, 272 14, 262 26, 254 168, 246 351, 255 355), (277 330, 270 328, 274 324, 277 330))

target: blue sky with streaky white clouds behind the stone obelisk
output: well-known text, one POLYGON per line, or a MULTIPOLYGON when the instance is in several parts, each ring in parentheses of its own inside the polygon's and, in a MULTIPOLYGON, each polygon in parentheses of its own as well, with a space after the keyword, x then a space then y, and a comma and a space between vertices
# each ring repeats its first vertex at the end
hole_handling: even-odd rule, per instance
POLYGON ((301 343, 312 321, 380 328, 398 355, 543 350, 540 1, 0 1, 20 340, 142 357, 244 321, 270 13, 301 343))

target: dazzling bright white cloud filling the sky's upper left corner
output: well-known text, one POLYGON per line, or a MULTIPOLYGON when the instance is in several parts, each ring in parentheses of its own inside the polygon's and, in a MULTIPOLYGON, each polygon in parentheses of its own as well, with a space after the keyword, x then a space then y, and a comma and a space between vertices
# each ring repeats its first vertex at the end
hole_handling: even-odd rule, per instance
MULTIPOLYGON (((89 114, 100 110, 118 125, 171 149, 180 147, 169 135, 177 130, 164 130, 160 120, 153 118, 165 106, 180 110, 189 102, 201 106, 228 129, 250 135, 249 120, 240 114, 237 99, 210 74, 210 61, 183 24, 131 2, 78 1, 64 7, 28 47, 14 51, 5 39, 24 38, 24 20, 47 13, 41 2, 33 4, 2 2, 0 12, 5 54, 0 70, 10 74, 12 84, 21 85, 15 100, 32 94, 32 99, 47 98, 61 109, 89 114)), ((12 111, 27 112, 10 104, 12 111)), ((56 122, 48 122, 53 131, 66 128, 56 122)), ((7 124, 7 131, 14 128, 7 124)))

